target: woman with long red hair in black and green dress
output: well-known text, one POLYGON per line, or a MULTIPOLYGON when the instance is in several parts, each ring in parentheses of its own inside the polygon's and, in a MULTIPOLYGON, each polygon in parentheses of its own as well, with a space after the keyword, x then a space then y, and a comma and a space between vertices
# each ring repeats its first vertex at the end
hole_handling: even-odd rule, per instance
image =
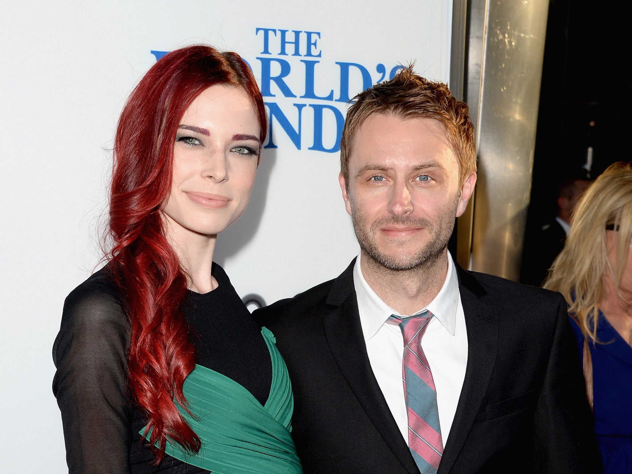
POLYGON ((53 391, 71 473, 301 472, 274 337, 212 263, 266 133, 252 72, 189 46, 119 119, 107 265, 64 303, 53 391))

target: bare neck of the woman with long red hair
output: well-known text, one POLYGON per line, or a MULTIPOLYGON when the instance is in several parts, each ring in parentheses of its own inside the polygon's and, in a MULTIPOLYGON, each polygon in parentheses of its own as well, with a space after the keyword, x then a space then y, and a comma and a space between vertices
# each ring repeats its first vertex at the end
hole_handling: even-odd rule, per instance
POLYGON ((184 228, 169 216, 164 216, 167 240, 178 254, 180 265, 186 272, 186 286, 196 293, 208 293, 217 288, 211 274, 213 252, 217 234, 198 234, 184 228))

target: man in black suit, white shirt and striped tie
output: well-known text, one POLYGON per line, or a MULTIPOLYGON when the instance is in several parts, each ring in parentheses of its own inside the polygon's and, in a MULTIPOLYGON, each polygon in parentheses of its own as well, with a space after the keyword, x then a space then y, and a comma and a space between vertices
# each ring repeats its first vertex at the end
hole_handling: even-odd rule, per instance
POLYGON ((411 68, 355 100, 339 181, 360 255, 255 312, 305 473, 598 472, 561 295, 446 250, 477 179, 466 104, 411 68))

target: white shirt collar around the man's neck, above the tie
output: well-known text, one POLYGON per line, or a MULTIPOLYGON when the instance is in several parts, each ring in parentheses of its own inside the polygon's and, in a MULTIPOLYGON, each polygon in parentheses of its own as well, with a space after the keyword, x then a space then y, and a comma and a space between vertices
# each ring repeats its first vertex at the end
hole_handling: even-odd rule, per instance
MULTIPOLYGON (((360 258, 356 259, 353 267, 353 283, 355 285, 356 297, 358 298, 358 310, 360 312, 360 322, 365 341, 371 339, 380 327, 389 319, 392 314, 399 315, 394 308, 389 307, 368 285, 360 269, 360 258)), ((417 313, 428 310, 454 336, 456 325, 456 310, 459 302, 459 283, 456 276, 456 269, 450 252, 447 252, 447 274, 446 280, 435 296, 434 300, 428 303, 427 307, 420 308, 417 313)))

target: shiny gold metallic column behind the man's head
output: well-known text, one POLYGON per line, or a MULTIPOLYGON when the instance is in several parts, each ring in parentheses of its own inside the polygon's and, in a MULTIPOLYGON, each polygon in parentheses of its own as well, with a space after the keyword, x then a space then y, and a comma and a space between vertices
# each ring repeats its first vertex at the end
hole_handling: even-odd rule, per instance
POLYGON ((531 190, 548 8, 548 0, 468 6, 465 100, 476 128, 478 183, 470 214, 459 219, 458 261, 466 263, 471 226, 470 268, 514 280, 531 190))

